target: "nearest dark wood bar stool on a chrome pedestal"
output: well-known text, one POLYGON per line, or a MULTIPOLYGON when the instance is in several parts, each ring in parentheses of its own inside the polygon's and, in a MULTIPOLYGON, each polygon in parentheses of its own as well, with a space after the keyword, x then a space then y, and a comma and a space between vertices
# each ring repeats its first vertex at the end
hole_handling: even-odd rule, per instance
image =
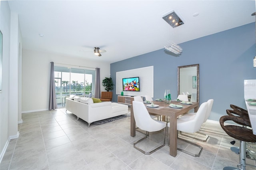
POLYGON ((234 167, 224 167, 223 170, 245 170, 246 165, 256 167, 253 165, 246 164, 246 142, 256 142, 256 135, 252 133, 252 130, 246 127, 240 127, 237 125, 224 125, 225 121, 234 121, 238 123, 239 125, 246 125, 246 121, 242 119, 241 117, 235 117, 235 116, 222 116, 220 117, 220 126, 222 129, 232 138, 240 140, 240 148, 239 148, 239 156, 240 156, 240 162, 237 165, 238 168, 234 167))

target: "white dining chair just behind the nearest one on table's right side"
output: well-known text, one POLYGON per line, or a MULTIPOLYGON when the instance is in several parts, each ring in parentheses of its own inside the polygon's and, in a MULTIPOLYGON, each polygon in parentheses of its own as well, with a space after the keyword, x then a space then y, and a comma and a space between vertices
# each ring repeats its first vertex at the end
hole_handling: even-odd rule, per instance
MULTIPOLYGON (((213 99, 209 99, 209 100, 207 101, 208 107, 207 107, 207 112, 206 112, 206 115, 205 115, 205 117, 204 117, 204 122, 203 122, 203 123, 205 123, 205 122, 207 121, 207 119, 210 117, 210 114, 211 114, 211 111, 212 111, 213 101, 214 101, 213 99)), ((197 114, 197 113, 187 113, 187 114, 182 115, 180 118, 186 119, 186 118, 189 118, 189 117, 194 117, 196 114, 197 114)), ((208 134, 205 134, 205 133, 202 133, 202 132, 196 132, 196 133, 201 134, 202 136, 205 136, 205 139, 202 139, 202 138, 195 138, 195 137, 193 137, 193 136, 184 134, 184 133, 182 133, 182 131, 180 131, 180 134, 181 134, 182 136, 187 136, 187 137, 189 137, 189 138, 193 138, 193 139, 199 140, 199 141, 201 141, 201 142, 206 142, 206 141, 207 141, 207 139, 208 139, 208 137, 209 137, 208 134)))

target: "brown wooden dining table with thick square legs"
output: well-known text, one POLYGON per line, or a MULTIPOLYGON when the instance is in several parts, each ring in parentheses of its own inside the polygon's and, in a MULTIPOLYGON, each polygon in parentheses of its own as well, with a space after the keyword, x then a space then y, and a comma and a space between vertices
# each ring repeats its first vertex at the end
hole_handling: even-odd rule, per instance
MULTIPOLYGON (((159 105, 159 107, 147 107, 147 110, 150 114, 154 115, 163 115, 166 117, 169 117, 170 119, 170 130, 169 130, 169 136, 170 136, 170 155, 176 156, 177 155, 177 117, 179 115, 182 115, 184 113, 187 113, 191 109, 194 109, 194 112, 198 111, 199 104, 197 102, 192 102, 191 105, 184 105, 177 101, 171 101, 171 103, 176 105, 182 105, 182 109, 173 109, 169 107, 170 104, 166 104, 164 101, 154 101, 154 105, 159 105)), ((145 103, 145 105, 148 105, 145 103)), ((135 136, 136 130, 135 130, 135 120, 133 115, 133 108, 131 105, 131 119, 130 119, 130 135, 135 136)))

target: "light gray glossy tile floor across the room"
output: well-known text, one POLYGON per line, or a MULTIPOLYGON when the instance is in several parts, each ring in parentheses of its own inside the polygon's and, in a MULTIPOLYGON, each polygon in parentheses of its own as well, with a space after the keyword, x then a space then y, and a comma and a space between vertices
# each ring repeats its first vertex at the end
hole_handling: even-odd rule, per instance
MULTIPOLYGON (((224 166, 236 166, 239 159, 230 151, 230 141, 234 139, 213 121, 207 121, 200 129, 210 136, 207 142, 186 138, 203 147, 200 157, 180 151, 173 157, 167 143, 151 155, 133 148, 133 142, 143 134, 136 131, 135 137, 130 136, 130 117, 88 128, 85 121, 77 121, 63 108, 24 113, 22 120, 18 125, 20 136, 10 140, 1 170, 222 170, 224 166)), ((150 133, 139 146, 151 149, 162 139, 163 132, 150 133)), ((178 147, 196 151, 181 140, 178 147)), ((254 160, 246 161, 256 165, 254 160)))

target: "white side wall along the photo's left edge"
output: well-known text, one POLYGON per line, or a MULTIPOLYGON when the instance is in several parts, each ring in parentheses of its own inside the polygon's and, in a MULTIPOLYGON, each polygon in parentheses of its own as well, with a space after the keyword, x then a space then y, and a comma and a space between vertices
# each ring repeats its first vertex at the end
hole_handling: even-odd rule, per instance
MULTIPOLYGON (((15 50, 19 43, 17 37, 20 36, 20 30, 18 27, 18 20, 12 20, 8 1, 1 1, 0 4, 0 30, 3 34, 3 50, 2 50, 2 91, 0 91, 0 161, 8 146, 8 142, 11 138, 14 138, 18 134, 18 113, 10 113, 10 108, 17 108, 18 102, 14 101, 10 104, 10 91, 12 88, 18 88, 18 84, 11 85, 10 83, 10 70, 12 63, 10 62, 10 51, 15 50), (11 29, 12 28, 12 29, 11 29), (12 32, 14 31, 15 32, 12 32), (11 35, 16 35, 11 38, 11 35)), ((12 53, 12 56, 16 56, 17 53, 12 53)), ((12 58, 13 62, 17 62, 15 57, 12 58)), ((13 79, 18 79, 17 75, 13 75, 13 79), (14 77, 15 76, 15 77, 14 77)), ((17 137, 17 136, 16 136, 17 137)))

